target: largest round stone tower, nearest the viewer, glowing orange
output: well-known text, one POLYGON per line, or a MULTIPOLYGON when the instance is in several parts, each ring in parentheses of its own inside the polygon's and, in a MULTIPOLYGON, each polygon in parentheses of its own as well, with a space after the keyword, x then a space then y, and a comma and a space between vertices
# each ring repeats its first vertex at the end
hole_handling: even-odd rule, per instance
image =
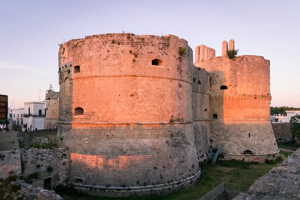
POLYGON ((92 35, 62 44, 58 58, 57 140, 69 148, 76 188, 125 196, 197 180, 186 40, 92 35))

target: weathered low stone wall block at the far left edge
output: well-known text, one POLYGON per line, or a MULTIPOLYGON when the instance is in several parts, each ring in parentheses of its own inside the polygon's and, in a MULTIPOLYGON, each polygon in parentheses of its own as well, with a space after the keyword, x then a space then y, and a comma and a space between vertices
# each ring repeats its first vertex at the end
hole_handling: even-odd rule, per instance
POLYGON ((0 178, 21 173, 20 150, 16 132, 0 132, 0 178))

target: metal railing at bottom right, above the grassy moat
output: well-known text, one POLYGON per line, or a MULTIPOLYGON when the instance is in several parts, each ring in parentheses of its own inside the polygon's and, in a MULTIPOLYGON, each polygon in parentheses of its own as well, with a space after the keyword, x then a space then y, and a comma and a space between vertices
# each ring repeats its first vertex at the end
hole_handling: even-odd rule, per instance
POLYGON ((225 190, 236 191, 236 192, 247 192, 248 188, 249 186, 245 186, 245 185, 222 182, 217 187, 212 189, 210 192, 205 194, 201 198, 201 200, 212 200, 225 190))

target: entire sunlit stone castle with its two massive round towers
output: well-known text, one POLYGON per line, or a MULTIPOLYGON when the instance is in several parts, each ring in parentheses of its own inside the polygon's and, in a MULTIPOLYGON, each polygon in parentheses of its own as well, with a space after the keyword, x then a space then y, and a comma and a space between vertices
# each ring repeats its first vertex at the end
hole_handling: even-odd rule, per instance
POLYGON ((197 46, 193 63, 187 41, 174 35, 62 44, 57 141, 69 149, 68 180, 103 195, 167 192, 197 181, 211 146, 227 159, 275 157, 269 60, 229 59, 227 46, 220 57, 197 46))

